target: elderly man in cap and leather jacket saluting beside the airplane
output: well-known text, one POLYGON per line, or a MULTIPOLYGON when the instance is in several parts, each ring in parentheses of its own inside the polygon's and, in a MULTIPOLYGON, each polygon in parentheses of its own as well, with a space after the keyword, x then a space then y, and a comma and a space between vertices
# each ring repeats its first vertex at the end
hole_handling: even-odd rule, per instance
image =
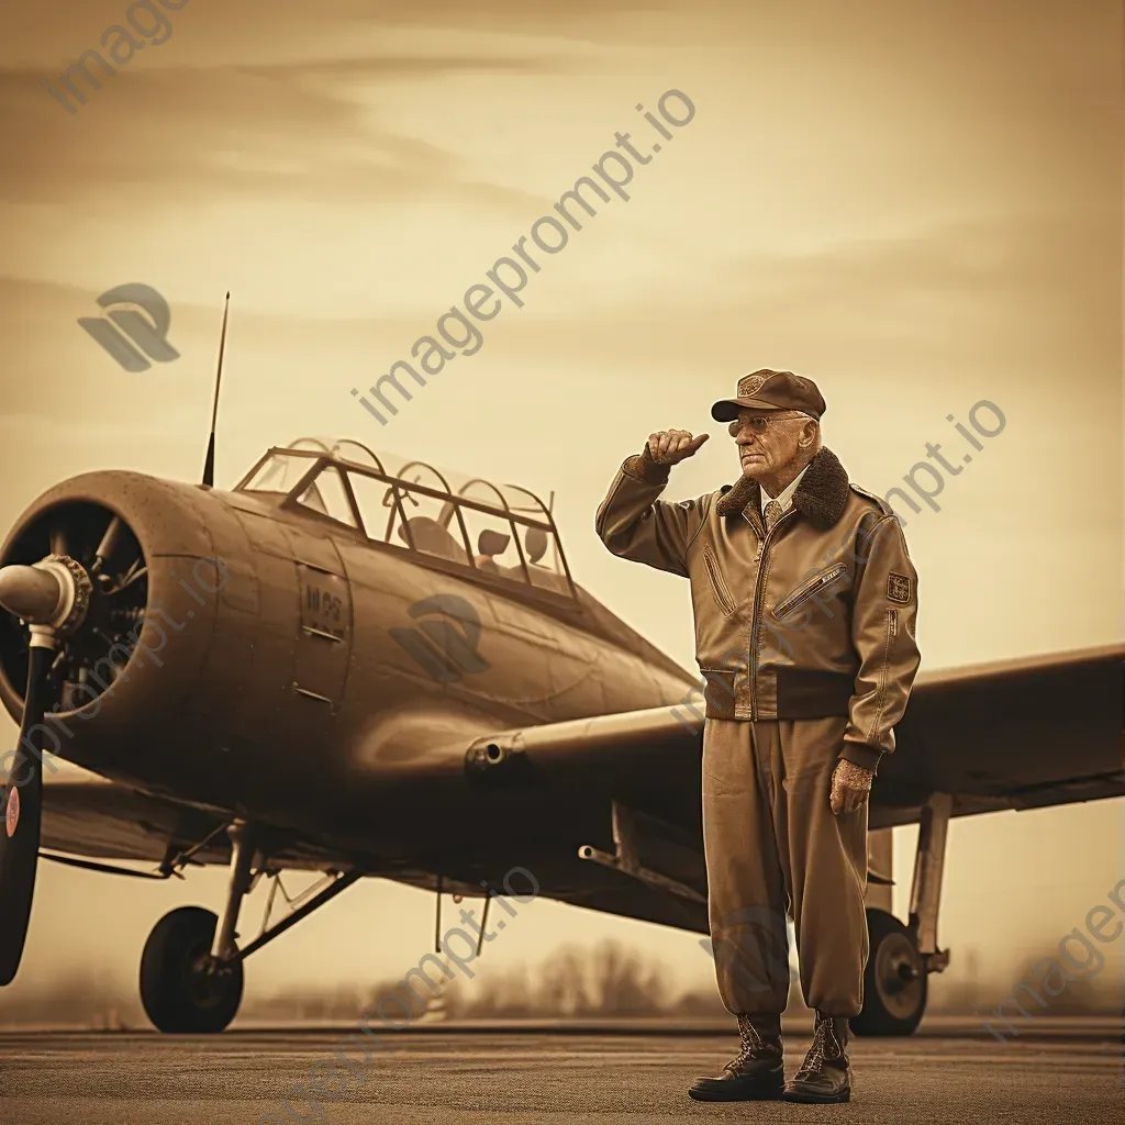
POLYGON ((820 444, 810 379, 755 371, 712 406, 741 476, 668 504, 669 467, 708 435, 649 435, 597 532, 622 558, 691 580, 703 673, 703 842, 719 991, 741 1051, 700 1100, 847 1101, 848 1017, 867 960, 867 795, 918 670, 917 575, 902 529, 820 444), (785 1086, 786 915, 812 1046, 785 1086))

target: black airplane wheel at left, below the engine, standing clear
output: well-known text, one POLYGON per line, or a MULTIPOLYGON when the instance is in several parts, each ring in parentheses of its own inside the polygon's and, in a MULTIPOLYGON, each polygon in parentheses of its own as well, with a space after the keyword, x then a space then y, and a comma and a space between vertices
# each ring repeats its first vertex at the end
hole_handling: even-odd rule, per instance
POLYGON ((141 954, 141 1002, 161 1032, 209 1034, 234 1019, 242 1001, 242 962, 216 971, 218 917, 180 907, 153 927, 141 954))

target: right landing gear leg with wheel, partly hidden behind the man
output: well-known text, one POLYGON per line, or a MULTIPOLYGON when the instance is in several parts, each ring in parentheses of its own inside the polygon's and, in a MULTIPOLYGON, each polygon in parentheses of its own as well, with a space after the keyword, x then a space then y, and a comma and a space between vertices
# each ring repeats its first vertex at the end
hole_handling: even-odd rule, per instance
POLYGON ((863 978, 863 1011, 849 1020, 856 1035, 910 1035, 926 1011, 927 976, 950 963, 937 947, 945 840, 953 810, 948 793, 933 793, 921 810, 910 889, 910 921, 867 909, 871 952, 863 978))

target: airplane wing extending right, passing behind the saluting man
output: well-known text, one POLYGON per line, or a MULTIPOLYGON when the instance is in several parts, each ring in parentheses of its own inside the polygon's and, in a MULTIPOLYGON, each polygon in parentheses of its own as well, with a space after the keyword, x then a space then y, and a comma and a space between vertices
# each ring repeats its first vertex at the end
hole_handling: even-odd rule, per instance
MULTIPOLYGON (((953 794, 954 816, 1125 795, 1123 687, 1120 645, 919 676, 880 765, 871 827, 916 821, 934 792, 953 794)), ((702 722, 681 704, 482 738, 468 768, 510 784, 584 775, 684 822, 699 806, 701 748, 702 722)))

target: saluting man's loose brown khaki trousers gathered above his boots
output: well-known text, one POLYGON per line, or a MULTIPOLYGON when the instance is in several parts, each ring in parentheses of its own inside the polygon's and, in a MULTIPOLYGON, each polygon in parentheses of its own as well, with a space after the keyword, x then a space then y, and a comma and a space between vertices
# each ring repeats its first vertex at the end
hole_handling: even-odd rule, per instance
POLYGON ((703 845, 719 993, 731 1014, 789 1000, 786 914, 804 1002, 863 1008, 867 806, 835 816, 831 773, 846 718, 744 722, 703 731, 703 845))

